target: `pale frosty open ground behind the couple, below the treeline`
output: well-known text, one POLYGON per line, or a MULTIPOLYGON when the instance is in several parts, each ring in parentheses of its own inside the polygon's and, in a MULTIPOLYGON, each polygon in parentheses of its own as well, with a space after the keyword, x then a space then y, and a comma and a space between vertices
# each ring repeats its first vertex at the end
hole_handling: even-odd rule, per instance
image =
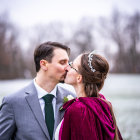
MULTIPOLYGON (((31 80, 0 81, 0 104, 5 95, 24 87, 31 80)), ((62 85, 69 90, 69 85, 62 85)), ((140 75, 110 74, 101 91, 112 102, 124 140, 140 140, 140 75)))

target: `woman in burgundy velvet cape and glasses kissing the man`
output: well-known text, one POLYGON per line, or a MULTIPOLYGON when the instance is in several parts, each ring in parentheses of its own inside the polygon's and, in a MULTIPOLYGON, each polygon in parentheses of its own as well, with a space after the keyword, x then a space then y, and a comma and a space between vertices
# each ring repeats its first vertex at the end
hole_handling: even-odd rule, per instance
POLYGON ((122 140, 111 103, 99 91, 109 71, 107 60, 93 52, 79 55, 67 67, 65 83, 77 98, 63 105, 59 140, 122 140))

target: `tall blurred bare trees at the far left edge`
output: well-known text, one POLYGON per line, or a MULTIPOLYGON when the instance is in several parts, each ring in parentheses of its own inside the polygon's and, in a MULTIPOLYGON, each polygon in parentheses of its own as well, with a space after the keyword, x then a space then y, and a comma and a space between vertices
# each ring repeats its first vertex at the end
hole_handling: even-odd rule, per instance
POLYGON ((21 49, 17 42, 18 32, 9 22, 8 15, 0 16, 0 78, 23 77, 21 49))

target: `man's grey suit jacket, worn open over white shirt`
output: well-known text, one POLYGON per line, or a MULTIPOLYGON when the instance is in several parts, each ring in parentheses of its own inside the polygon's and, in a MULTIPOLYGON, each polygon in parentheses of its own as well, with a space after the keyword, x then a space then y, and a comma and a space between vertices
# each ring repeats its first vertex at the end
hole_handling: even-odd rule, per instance
MULTIPOLYGON (((63 105, 63 98, 69 94, 75 96, 58 86, 54 133, 64 115, 59 108, 63 105)), ((33 82, 3 99, 0 107, 0 140, 50 140, 33 82)))

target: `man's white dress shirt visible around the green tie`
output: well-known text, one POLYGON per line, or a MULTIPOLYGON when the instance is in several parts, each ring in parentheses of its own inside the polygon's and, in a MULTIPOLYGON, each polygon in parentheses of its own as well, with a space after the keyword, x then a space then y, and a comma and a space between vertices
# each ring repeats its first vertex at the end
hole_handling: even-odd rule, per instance
POLYGON ((41 88, 41 87, 36 83, 35 79, 34 79, 34 85, 35 85, 35 88, 36 88, 36 90, 37 90, 37 95, 38 95, 38 99, 39 99, 39 103, 40 103, 40 106, 41 106, 41 110, 42 110, 44 119, 45 119, 45 111, 44 111, 45 102, 44 102, 44 100, 42 99, 42 97, 45 96, 46 94, 52 94, 52 95, 54 95, 54 98, 53 98, 53 100, 52 100, 52 105, 53 105, 54 120, 55 120, 55 106, 56 106, 56 90, 57 90, 57 85, 55 86, 55 88, 54 88, 50 93, 48 93, 48 92, 45 91, 43 88, 41 88))

